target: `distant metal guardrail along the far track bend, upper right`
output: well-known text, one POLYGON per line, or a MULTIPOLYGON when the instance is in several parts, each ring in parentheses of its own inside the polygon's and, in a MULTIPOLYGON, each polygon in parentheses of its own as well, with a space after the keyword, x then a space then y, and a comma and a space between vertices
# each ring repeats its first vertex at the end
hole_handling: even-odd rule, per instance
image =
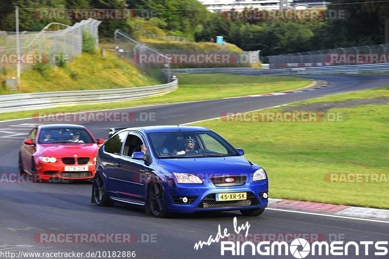
POLYGON ((219 67, 219 68, 178 68, 170 69, 172 74, 203 74, 225 73, 245 74, 256 76, 284 76, 284 75, 310 75, 310 74, 337 74, 337 73, 363 73, 389 71, 389 63, 366 65, 333 65, 315 67, 291 67, 280 69, 261 69, 252 67, 219 67))

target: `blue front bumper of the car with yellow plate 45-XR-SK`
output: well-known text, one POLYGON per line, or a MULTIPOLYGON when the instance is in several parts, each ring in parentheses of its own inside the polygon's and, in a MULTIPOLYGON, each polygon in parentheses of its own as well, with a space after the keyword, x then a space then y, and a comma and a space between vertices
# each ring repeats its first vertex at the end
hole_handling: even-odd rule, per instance
MULTIPOLYGON (((268 192, 267 180, 252 182, 248 180, 241 186, 216 187, 211 181, 204 184, 165 184, 167 210, 170 212, 193 213, 196 211, 248 210, 267 207, 268 200, 261 194, 268 192), (246 200, 215 201, 214 194, 243 193, 246 200), (177 204, 177 197, 187 197, 190 204, 177 204)), ((189 202, 188 202, 189 203, 189 202)))

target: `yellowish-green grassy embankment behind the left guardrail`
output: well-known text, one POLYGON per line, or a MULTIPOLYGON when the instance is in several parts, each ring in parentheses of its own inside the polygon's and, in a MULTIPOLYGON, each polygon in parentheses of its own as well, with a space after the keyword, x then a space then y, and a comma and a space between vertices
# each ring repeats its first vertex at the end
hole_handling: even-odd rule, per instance
POLYGON ((64 67, 49 67, 42 72, 34 69, 26 71, 21 74, 21 85, 17 92, 0 88, 0 94, 109 89, 153 84, 159 82, 112 53, 107 53, 106 58, 102 58, 100 54, 84 53, 64 67))

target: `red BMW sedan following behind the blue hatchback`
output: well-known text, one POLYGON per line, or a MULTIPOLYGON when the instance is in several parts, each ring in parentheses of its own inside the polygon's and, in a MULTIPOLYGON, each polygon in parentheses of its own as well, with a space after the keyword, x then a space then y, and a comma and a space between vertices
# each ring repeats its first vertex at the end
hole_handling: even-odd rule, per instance
POLYGON ((37 126, 20 148, 19 170, 33 176, 34 181, 92 179, 102 144, 103 139, 95 139, 81 125, 37 126))

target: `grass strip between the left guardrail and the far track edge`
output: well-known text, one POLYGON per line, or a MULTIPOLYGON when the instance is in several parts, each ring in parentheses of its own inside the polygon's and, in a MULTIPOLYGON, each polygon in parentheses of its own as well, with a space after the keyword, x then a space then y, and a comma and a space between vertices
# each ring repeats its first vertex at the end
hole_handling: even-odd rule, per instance
MULTIPOLYGON (((93 81, 93 79, 91 79, 93 81)), ((78 112, 102 109, 134 107, 147 104, 175 103, 218 99, 223 97, 244 96, 301 88, 310 84, 310 80, 288 77, 253 77, 223 74, 179 75, 179 87, 176 91, 157 97, 148 97, 122 102, 85 104, 57 107, 50 112, 78 112), (207 93, 206 95, 204 93, 207 93)), ((0 113, 0 120, 31 117, 35 110, 15 113, 0 113)))

